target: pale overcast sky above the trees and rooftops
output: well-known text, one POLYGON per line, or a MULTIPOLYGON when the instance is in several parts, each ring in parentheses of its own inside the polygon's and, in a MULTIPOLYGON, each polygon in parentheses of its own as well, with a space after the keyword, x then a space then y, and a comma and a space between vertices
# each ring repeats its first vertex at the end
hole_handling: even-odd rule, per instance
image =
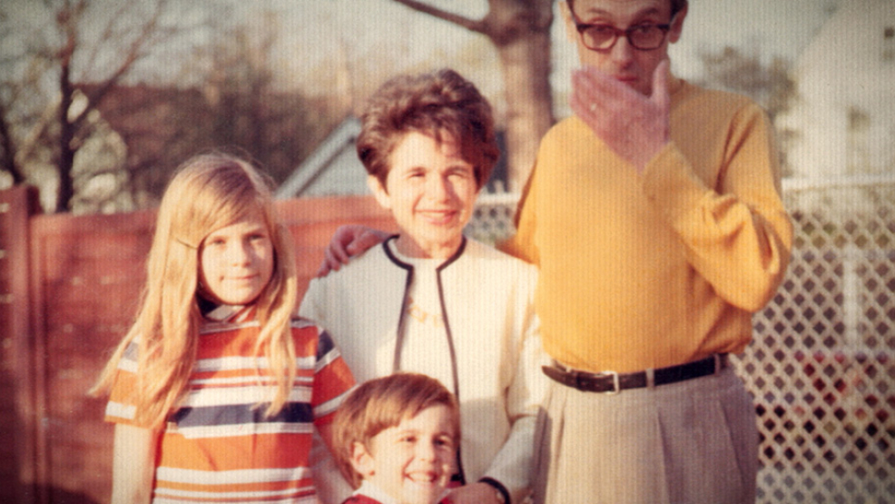
MULTIPOLYGON (((300 86, 310 93, 331 91, 336 85, 336 69, 349 61, 367 64, 384 74, 453 66, 492 98, 500 93, 502 81, 496 71, 495 52, 483 36, 416 13, 392 0, 174 1, 182 5, 176 13, 179 21, 211 16, 219 22, 260 24, 264 22, 262 12, 275 12, 280 40, 273 65, 277 81, 283 86, 300 86)), ((487 12, 486 0, 431 1, 472 18, 487 12)), ((94 18, 112 12, 120 2, 98 0, 96 4, 107 7, 94 18)), ((47 19, 49 11, 34 0, 5 0, 5 5, 23 19, 23 25, 52 23, 52 18, 47 19)), ((720 51, 725 45, 757 54, 765 61, 773 56, 794 61, 827 19, 833 5, 836 0, 691 0, 684 36, 671 51, 674 72, 698 78, 702 72, 699 54, 720 51)), ((577 58, 559 19, 557 7, 553 84, 562 96, 568 71, 577 64, 577 58)), ((200 39, 201 32, 198 30, 194 38, 200 39)), ((186 45, 183 40, 144 68, 151 67, 156 78, 177 74, 166 70, 165 65, 178 60, 177 54, 182 54, 186 45)))

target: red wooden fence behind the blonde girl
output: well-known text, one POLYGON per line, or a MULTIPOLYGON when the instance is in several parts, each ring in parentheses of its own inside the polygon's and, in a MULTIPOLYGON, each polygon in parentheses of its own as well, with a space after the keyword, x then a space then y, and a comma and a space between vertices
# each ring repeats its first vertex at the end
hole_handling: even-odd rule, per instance
MULTIPOLYGON (((107 502, 112 427, 86 396, 136 311, 155 212, 41 215, 0 192, 0 502, 107 502)), ((340 224, 394 229, 370 197, 278 203, 300 290, 340 224)))

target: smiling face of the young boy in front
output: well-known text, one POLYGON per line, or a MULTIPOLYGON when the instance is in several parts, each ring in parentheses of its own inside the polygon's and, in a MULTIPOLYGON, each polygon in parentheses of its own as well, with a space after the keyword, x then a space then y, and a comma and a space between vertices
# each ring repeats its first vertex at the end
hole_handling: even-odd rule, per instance
POLYGON ((400 504, 433 504, 447 489, 457 457, 451 410, 444 405, 422 410, 370 440, 360 443, 351 462, 365 480, 400 504))

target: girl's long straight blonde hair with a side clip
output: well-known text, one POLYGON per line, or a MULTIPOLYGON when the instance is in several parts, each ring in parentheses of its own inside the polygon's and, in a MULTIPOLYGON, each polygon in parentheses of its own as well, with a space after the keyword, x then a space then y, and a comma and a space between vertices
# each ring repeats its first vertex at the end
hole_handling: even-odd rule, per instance
MULTIPOLYGON (((91 393, 111 389, 124 351, 135 341, 139 349, 135 420, 152 428, 162 426, 196 361, 202 324, 196 299, 202 241, 256 211, 267 224, 275 260, 270 282, 254 302, 261 323, 255 356, 267 358, 276 382, 265 413, 282 410, 296 376, 290 331, 298 290, 292 240, 275 212, 269 180, 250 163, 223 153, 193 157, 168 185, 152 238, 140 310, 91 393)), ((256 366, 261 374, 262 366, 256 366)))

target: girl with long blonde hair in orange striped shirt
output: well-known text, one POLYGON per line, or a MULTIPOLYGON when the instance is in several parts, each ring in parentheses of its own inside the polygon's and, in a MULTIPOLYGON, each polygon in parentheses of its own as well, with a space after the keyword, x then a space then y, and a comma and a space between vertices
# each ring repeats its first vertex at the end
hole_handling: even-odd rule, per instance
POLYGON ((111 390, 113 502, 315 499, 312 427, 329 441, 353 379, 296 298, 266 178, 228 154, 184 163, 136 321, 92 390, 111 390))

